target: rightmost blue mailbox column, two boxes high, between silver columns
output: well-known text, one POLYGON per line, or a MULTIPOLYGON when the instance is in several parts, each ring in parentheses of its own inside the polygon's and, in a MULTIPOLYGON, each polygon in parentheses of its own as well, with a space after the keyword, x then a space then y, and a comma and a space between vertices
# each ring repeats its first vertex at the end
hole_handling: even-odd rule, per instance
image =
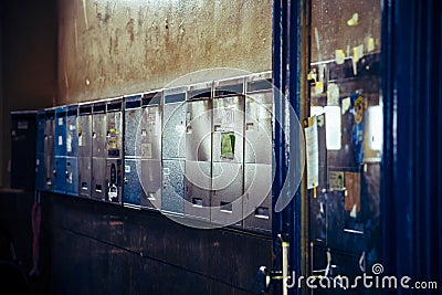
POLYGON ((186 87, 164 93, 161 210, 165 212, 185 211, 186 94, 186 87))

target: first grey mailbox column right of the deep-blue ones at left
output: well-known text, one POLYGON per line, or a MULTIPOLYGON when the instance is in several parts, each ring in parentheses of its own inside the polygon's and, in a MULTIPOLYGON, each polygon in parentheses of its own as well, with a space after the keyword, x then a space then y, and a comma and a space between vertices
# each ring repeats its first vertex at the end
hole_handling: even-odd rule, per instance
POLYGON ((92 104, 78 105, 78 194, 91 198, 92 190, 92 104))

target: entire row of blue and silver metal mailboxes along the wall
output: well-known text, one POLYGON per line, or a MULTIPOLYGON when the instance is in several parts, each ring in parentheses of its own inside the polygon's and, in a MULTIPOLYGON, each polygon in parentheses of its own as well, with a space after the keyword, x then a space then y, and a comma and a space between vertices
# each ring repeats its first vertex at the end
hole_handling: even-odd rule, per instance
POLYGON ((36 189, 270 230, 272 106, 261 73, 41 109, 36 189))

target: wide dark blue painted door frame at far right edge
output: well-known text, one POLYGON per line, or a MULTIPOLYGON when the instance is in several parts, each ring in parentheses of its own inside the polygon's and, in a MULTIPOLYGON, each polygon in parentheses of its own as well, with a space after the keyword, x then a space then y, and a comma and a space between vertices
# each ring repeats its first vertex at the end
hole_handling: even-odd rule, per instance
POLYGON ((442 275, 441 28, 439 0, 383 1, 382 263, 413 280, 442 275))

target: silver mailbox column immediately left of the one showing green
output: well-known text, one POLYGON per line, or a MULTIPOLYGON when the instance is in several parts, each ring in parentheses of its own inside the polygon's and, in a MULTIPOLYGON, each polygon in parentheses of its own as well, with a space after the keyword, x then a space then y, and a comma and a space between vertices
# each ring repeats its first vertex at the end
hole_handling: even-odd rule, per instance
POLYGON ((212 83, 189 87, 186 117, 186 202, 188 217, 210 221, 212 83))

